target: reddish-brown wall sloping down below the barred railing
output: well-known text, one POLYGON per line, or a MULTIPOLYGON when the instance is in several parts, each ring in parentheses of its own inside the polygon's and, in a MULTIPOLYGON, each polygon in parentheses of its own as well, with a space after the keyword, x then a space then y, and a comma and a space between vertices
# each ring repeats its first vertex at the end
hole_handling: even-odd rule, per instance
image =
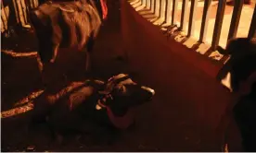
POLYGON ((190 128, 198 130, 200 150, 218 151, 229 121, 226 109, 232 101, 231 94, 215 79, 221 65, 213 65, 207 57, 168 41, 126 0, 122 0, 122 37, 128 57, 135 59, 130 64, 137 72, 147 74, 145 78, 152 86, 165 88, 156 91, 162 100, 167 97, 166 106, 176 104, 183 110, 182 118, 190 121, 190 128))

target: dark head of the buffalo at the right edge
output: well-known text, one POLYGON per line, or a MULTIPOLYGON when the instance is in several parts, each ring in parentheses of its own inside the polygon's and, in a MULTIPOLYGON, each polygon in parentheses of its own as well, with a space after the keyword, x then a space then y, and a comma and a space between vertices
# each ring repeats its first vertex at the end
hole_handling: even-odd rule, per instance
POLYGON ((226 49, 218 47, 217 50, 230 57, 218 74, 222 84, 234 92, 250 90, 256 80, 256 42, 238 38, 228 41, 226 49))

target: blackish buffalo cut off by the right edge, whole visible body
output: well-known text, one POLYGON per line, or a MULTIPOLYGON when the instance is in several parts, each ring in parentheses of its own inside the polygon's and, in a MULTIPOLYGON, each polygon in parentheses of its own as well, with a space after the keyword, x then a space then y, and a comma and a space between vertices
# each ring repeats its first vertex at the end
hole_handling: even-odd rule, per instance
POLYGON ((237 95, 234 116, 243 139, 245 151, 256 151, 256 42, 248 38, 229 41, 229 61, 219 73, 223 85, 237 95))

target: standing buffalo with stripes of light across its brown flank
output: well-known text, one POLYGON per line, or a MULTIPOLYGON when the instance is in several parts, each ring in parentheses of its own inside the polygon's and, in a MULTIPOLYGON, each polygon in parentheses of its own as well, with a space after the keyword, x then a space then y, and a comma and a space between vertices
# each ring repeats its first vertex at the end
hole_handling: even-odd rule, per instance
POLYGON ((46 67, 51 67, 47 65, 55 63, 59 56, 65 56, 58 52, 59 48, 72 48, 70 52, 86 49, 84 65, 87 70, 89 53, 107 15, 105 0, 55 0, 33 9, 30 18, 38 39, 40 70, 45 71, 46 67))

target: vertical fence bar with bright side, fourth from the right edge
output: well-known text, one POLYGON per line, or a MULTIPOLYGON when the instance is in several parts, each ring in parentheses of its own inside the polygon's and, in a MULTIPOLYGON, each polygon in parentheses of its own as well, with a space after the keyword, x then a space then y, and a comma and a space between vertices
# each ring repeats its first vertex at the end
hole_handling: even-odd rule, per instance
POLYGON ((211 12, 211 0, 205 0, 204 6, 203 6, 203 15, 202 15, 200 36, 199 36, 199 40, 198 40, 199 42, 206 41, 210 12, 211 12))

